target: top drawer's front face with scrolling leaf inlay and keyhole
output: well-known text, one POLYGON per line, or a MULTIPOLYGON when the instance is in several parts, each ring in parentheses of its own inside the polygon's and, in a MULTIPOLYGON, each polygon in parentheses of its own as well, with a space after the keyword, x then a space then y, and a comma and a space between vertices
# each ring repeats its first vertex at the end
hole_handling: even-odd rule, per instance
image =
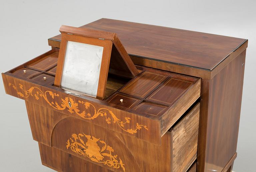
POLYGON ((125 107, 117 109, 96 98, 76 97, 66 94, 60 88, 41 86, 10 75, 2 74, 7 94, 104 128, 161 144, 160 120, 154 115, 130 111, 125 107))

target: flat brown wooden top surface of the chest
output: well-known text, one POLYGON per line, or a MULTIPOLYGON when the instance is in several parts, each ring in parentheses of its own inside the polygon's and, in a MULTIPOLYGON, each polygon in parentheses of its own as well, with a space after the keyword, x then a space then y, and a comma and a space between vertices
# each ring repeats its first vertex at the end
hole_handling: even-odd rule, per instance
MULTIPOLYGON (((127 52, 138 57, 208 70, 246 41, 111 19, 100 19, 81 28, 117 33, 127 52)), ((61 37, 56 36, 50 40, 59 42, 61 37)))

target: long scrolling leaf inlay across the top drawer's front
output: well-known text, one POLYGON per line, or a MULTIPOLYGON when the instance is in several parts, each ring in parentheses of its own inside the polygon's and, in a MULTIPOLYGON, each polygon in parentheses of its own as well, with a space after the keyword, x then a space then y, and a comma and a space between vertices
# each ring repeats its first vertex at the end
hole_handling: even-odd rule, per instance
POLYGON ((49 101, 47 98, 47 95, 51 96, 52 99, 54 99, 55 97, 59 97, 59 94, 53 93, 52 91, 45 91, 43 93, 43 91, 40 90, 38 87, 31 87, 30 89, 26 90, 24 89, 23 85, 19 84, 19 88, 22 91, 21 92, 17 89, 17 87, 14 84, 9 83, 9 86, 12 86, 13 89, 16 90, 17 94, 20 97, 28 98, 29 96, 32 96, 32 97, 34 96, 36 100, 39 100, 39 97, 42 97, 54 109, 62 111, 67 108, 71 114, 76 113, 78 116, 87 120, 94 120, 100 116, 105 118, 105 121, 107 122, 107 124, 111 124, 111 122, 114 124, 117 124, 122 130, 131 134, 137 133, 137 130, 142 129, 142 127, 148 130, 147 126, 139 125, 138 123, 136 124, 135 129, 133 128, 125 129, 125 124, 129 124, 131 118, 125 117, 125 122, 123 122, 120 119, 118 119, 112 111, 106 108, 100 108, 96 110, 95 106, 93 106, 89 102, 83 102, 80 100, 78 101, 78 103, 83 104, 85 106, 86 110, 88 110, 89 108, 93 108, 92 110, 94 111, 94 114, 86 113, 86 111, 80 112, 78 108, 78 103, 75 103, 74 100, 70 97, 65 97, 65 99, 61 99, 62 101, 61 105, 59 105, 57 102, 49 101))

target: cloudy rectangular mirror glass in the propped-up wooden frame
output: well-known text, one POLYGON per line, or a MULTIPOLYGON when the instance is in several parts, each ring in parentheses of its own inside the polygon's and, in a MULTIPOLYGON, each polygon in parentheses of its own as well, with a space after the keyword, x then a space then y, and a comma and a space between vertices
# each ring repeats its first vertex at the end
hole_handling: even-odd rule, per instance
POLYGON ((68 41, 61 88, 96 97, 103 47, 68 41))

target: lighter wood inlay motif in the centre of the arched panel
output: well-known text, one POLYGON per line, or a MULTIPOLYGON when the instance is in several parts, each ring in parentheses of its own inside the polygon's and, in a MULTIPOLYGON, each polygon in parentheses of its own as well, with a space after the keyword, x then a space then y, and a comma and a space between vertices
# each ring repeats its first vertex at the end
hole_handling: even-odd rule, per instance
POLYGON ((113 168, 122 168, 125 171, 123 161, 118 155, 112 155, 114 149, 106 144, 105 141, 86 134, 72 134, 72 137, 67 141, 67 149, 70 148, 73 152, 90 158, 91 161, 102 163, 113 168))

